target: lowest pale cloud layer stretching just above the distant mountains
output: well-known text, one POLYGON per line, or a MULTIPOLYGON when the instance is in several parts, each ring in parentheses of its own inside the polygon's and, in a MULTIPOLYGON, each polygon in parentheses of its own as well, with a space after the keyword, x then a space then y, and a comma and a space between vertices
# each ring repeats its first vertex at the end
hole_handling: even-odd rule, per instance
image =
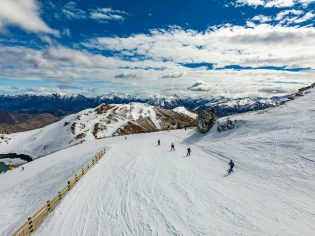
POLYGON ((104 88, 103 93, 121 92, 127 86, 130 93, 139 93, 141 88, 153 95, 200 96, 203 91, 204 97, 274 96, 283 94, 270 94, 261 88, 277 87, 278 81, 283 90, 290 92, 301 87, 292 82, 314 81, 314 71, 187 68, 172 61, 128 61, 61 46, 45 50, 1 47, 0 68, 0 76, 8 79, 52 80, 70 85, 102 81, 116 85, 104 88))

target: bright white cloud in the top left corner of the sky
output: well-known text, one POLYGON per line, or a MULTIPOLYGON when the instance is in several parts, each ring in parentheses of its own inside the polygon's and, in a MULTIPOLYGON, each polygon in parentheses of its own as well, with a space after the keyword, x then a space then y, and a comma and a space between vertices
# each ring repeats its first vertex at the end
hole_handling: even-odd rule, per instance
POLYGON ((41 18, 35 0, 1 0, 0 30, 6 26, 18 26, 32 33, 58 35, 41 18))

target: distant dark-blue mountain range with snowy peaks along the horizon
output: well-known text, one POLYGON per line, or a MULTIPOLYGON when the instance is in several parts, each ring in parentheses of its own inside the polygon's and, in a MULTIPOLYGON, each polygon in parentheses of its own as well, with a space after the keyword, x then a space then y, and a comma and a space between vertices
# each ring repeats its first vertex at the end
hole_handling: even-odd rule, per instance
POLYGON ((261 110, 275 106, 287 100, 286 96, 272 98, 190 98, 190 97, 135 97, 130 95, 110 94, 99 97, 85 97, 83 95, 61 96, 52 94, 37 95, 0 95, 0 109, 8 112, 41 114, 50 113, 55 116, 64 116, 79 112, 83 109, 96 107, 102 103, 126 104, 130 102, 147 103, 166 109, 184 106, 194 112, 212 106, 218 116, 226 116, 247 111, 261 110))

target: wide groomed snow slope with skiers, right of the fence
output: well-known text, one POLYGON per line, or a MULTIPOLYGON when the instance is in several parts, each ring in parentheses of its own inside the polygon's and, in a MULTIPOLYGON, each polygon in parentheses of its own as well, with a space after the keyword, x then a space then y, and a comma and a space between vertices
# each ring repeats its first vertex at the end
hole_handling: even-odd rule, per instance
POLYGON ((105 158, 35 235, 315 235, 314 114, 312 90, 222 133, 99 141, 105 158))

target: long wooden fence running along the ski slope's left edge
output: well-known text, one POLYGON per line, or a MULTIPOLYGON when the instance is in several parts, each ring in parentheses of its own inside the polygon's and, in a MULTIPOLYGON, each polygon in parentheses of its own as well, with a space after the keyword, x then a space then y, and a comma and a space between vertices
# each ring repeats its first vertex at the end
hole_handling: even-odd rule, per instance
POLYGON ((47 218, 50 212, 52 212, 58 203, 62 200, 62 198, 76 185, 76 183, 81 179, 81 177, 87 173, 98 161, 104 156, 105 150, 102 150, 98 154, 95 155, 95 158, 82 170, 77 173, 72 180, 68 181, 67 185, 58 192, 58 194, 50 201, 39 209, 32 217, 29 217, 27 222, 22 225, 13 236, 27 236, 31 235, 40 224, 47 218))

